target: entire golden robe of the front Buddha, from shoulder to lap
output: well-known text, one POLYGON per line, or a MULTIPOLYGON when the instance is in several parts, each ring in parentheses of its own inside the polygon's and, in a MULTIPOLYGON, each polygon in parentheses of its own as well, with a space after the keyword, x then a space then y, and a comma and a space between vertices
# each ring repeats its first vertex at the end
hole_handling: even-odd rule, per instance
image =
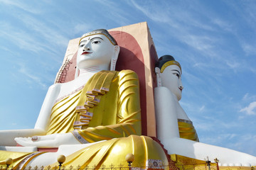
MULTIPOLYGON (((161 146, 150 137, 137 136, 141 131, 137 74, 123 70, 98 72, 85 86, 56 101, 47 135, 72 132, 81 143, 107 140, 70 154, 65 166, 125 166, 128 153, 135 155, 137 166, 146 166, 155 160, 166 164, 161 146)), ((36 154, 43 153, 18 154, 13 165, 23 169, 36 154)), ((1 155, 3 152, 0 158, 1 155)), ((0 161, 8 158, 6 155, 14 157, 16 152, 4 154, 0 161)))

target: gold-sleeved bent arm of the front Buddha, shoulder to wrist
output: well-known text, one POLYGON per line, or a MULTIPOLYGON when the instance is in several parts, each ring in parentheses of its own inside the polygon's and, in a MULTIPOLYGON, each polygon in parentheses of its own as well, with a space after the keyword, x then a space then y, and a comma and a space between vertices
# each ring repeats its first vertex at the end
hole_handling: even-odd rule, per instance
POLYGON ((141 135, 141 112, 139 105, 139 81, 132 71, 122 71, 119 75, 119 101, 117 123, 97 126, 73 132, 75 137, 83 137, 87 142, 110 140, 129 135, 141 135))

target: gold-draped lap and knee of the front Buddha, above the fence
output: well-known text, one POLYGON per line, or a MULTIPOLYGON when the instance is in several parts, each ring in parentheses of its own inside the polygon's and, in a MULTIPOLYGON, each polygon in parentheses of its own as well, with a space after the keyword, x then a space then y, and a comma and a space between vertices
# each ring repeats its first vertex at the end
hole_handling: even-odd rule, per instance
MULTIPOLYGON (((131 135, 129 137, 115 138, 104 142, 97 142, 93 145, 74 152, 66 157, 65 166, 98 166, 102 164, 115 167, 119 164, 126 165, 125 156, 129 153, 134 154, 134 166, 145 166, 148 159, 161 160, 167 164, 166 154, 162 147, 151 139, 151 137, 131 135)), ((11 157, 16 166, 23 159, 28 157, 31 152, 0 152, 0 162, 11 157)), ((39 156, 40 157, 40 156, 39 156)), ((33 159, 32 159, 33 161, 33 159)), ((50 166, 58 166, 58 162, 50 166)))

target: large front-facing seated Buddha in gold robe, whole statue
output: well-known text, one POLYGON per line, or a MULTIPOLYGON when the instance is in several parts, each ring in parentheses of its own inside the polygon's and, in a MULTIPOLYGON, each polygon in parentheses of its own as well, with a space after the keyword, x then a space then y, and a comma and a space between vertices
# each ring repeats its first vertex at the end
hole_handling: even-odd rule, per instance
POLYGON ((82 35, 78 47, 77 77, 48 89, 33 130, 0 131, 0 164, 11 157, 14 169, 26 166, 58 165, 59 154, 65 166, 146 166, 151 160, 167 162, 162 147, 141 135, 139 81, 131 70, 114 71, 119 46, 107 30, 82 35), (14 139, 15 138, 15 139, 14 139), (31 149, 32 147, 32 149, 31 149), (35 152, 35 148, 58 147, 58 152, 35 152))

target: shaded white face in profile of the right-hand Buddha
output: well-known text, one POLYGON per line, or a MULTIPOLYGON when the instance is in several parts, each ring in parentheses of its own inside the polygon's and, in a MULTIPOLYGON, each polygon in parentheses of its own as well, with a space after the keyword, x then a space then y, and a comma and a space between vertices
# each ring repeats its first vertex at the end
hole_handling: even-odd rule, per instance
POLYGON ((160 73, 161 85, 168 88, 172 93, 177 96, 178 101, 181 100, 181 92, 183 85, 181 82, 181 69, 173 64, 164 69, 163 73, 160 73))

